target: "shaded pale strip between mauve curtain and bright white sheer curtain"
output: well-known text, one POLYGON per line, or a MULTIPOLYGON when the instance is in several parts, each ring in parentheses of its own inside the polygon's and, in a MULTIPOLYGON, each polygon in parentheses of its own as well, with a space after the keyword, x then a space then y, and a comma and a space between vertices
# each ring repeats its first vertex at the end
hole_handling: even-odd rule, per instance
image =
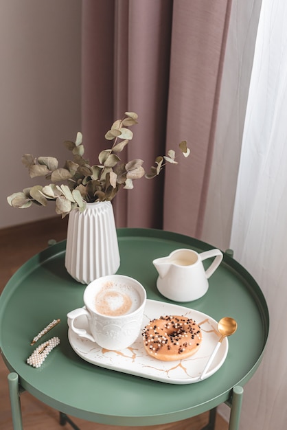
POLYGON ((202 240, 230 246, 246 104, 262 0, 233 0, 202 240))

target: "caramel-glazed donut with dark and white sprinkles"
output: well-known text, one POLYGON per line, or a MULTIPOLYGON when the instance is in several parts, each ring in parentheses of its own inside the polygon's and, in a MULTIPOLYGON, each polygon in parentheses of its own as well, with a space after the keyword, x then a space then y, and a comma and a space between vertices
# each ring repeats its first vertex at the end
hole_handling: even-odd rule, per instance
POLYGON ((152 319, 142 335, 146 352, 163 361, 187 359, 198 350, 202 339, 200 326, 178 315, 152 319))

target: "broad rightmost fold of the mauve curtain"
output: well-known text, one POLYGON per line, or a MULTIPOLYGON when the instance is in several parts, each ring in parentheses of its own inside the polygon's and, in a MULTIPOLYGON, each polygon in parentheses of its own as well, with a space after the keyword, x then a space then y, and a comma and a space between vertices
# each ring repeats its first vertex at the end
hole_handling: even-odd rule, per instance
POLYGON ((168 146, 192 159, 165 178, 164 228, 200 238, 209 185, 231 1, 174 1, 168 146))

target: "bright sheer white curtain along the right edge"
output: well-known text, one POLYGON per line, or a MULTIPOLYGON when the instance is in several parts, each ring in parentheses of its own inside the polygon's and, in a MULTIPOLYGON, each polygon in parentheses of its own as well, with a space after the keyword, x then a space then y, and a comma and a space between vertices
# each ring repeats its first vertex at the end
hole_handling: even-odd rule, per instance
POLYGON ((286 23, 286 0, 262 1, 231 248, 264 291, 271 332, 262 364, 244 389, 242 430, 287 428, 286 23))

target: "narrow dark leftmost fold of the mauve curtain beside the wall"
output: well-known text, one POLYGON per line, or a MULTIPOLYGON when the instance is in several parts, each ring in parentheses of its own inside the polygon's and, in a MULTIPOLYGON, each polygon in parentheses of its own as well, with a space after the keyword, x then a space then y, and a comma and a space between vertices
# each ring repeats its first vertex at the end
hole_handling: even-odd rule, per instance
MULTIPOLYGON (((82 2, 82 133, 91 159, 113 119, 114 0, 82 2)), ((93 157, 93 158, 92 158, 93 157)))

